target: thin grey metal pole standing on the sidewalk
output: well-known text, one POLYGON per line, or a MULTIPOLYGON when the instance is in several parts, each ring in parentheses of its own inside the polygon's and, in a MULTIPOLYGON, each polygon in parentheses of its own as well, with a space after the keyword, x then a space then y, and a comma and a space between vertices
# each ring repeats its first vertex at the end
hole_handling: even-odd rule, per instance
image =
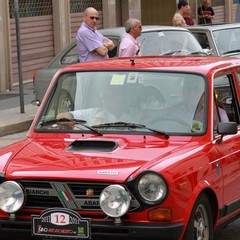
POLYGON ((22 77, 22 56, 21 56, 21 39, 19 25, 19 4, 18 0, 14 0, 15 22, 16 22, 16 38, 17 38, 17 56, 18 56, 18 76, 19 76, 19 93, 20 93, 20 112, 24 113, 24 97, 23 97, 23 77, 22 77))

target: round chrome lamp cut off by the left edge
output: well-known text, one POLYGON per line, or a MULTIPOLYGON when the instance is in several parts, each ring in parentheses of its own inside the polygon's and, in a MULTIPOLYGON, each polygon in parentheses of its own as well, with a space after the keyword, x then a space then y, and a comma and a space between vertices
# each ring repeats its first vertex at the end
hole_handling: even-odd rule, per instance
POLYGON ((6 213, 15 213, 24 204, 22 187, 13 181, 0 184, 0 209, 6 213))

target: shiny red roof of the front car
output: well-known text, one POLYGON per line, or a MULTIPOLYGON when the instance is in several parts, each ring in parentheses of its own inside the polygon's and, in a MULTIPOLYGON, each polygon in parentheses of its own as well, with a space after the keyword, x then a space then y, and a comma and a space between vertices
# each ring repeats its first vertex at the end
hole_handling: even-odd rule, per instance
POLYGON ((240 59, 219 56, 142 56, 135 58, 111 58, 69 65, 63 71, 88 70, 179 70, 206 74, 216 69, 240 66, 240 59))

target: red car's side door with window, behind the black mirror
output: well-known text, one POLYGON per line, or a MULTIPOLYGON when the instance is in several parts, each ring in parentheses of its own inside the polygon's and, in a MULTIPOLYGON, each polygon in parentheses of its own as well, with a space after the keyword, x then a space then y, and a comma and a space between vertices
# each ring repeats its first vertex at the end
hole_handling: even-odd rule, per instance
MULTIPOLYGON (((237 81, 234 82, 233 74, 223 74, 214 79, 214 104, 213 121, 236 122, 239 125, 239 101, 237 93, 237 81), (225 111, 228 119, 222 112, 225 111)), ((213 123, 214 126, 214 123, 213 123)), ((214 138, 219 139, 214 130, 214 138)), ((223 136, 223 141, 215 143, 217 154, 216 172, 222 175, 223 198, 220 205, 228 205, 226 213, 237 210, 236 200, 239 200, 240 193, 240 131, 234 135, 223 136), (229 212, 228 212, 229 211, 229 212)))

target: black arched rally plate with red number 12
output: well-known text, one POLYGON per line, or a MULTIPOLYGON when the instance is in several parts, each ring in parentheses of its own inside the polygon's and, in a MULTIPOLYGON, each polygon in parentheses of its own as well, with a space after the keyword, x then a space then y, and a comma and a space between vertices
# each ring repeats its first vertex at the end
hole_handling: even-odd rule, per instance
POLYGON ((65 208, 51 208, 32 216, 32 235, 75 239, 91 238, 91 221, 65 208))

